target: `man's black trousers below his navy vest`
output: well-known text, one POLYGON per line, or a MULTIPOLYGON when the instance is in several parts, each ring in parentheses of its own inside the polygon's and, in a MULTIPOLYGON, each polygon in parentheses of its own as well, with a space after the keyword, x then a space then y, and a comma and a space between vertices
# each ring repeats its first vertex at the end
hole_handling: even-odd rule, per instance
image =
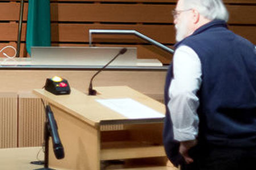
POLYGON ((181 170, 254 170, 256 169, 256 147, 226 148, 196 146, 189 151, 192 164, 181 164, 181 170))

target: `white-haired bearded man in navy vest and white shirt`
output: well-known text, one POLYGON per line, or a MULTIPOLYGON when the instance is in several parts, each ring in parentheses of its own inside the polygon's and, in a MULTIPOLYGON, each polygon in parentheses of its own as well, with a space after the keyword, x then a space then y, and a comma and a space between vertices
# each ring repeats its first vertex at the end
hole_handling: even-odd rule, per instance
POLYGON ((163 141, 181 169, 254 169, 255 46, 229 31, 221 0, 179 0, 163 141))

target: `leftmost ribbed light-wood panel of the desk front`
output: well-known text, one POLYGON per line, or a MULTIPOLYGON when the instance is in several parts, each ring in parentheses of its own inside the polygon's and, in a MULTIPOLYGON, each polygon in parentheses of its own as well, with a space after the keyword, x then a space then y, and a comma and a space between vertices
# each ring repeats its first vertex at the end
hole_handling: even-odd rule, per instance
POLYGON ((0 92, 0 148, 17 147, 17 94, 0 92))

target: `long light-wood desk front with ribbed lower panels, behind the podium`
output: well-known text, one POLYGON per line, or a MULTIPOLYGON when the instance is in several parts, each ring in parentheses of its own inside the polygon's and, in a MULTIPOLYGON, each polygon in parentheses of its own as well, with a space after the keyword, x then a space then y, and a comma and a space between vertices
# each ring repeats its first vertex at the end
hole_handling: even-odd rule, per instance
MULTIPOLYGON (((41 101, 36 95, 31 94, 31 91, 34 88, 42 88, 46 83, 46 78, 55 75, 61 76, 68 80, 71 87, 87 92, 90 78, 100 68, 100 66, 1 66, 0 108, 5 109, 0 112, 6 118, 0 122, 9 128, 0 134, 2 140, 0 147, 41 145, 45 116, 41 101), (3 94, 6 92, 12 94, 8 96, 3 94)), ((167 66, 107 67, 94 79, 93 86, 129 86, 163 102, 163 87, 167 69, 167 66)))

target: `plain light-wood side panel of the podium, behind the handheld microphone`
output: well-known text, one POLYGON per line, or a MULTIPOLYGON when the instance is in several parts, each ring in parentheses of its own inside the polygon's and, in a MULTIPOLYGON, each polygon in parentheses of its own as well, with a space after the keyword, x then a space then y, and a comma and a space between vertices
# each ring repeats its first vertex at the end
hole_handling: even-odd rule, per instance
MULTIPOLYGON (((49 167, 67 169, 100 169, 100 134, 89 124, 64 112, 62 108, 51 105, 65 158, 56 159, 53 150, 49 150, 49 167)), ((52 148, 52 141, 49 141, 52 148)))

